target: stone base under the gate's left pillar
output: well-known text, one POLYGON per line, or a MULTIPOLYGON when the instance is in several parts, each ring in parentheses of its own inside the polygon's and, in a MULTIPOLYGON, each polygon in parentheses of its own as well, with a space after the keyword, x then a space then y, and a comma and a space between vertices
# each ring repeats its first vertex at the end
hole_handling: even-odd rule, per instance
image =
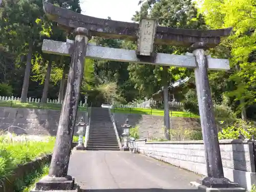
POLYGON ((71 176, 66 177, 49 177, 45 176, 35 184, 35 188, 30 192, 75 192, 79 190, 79 185, 71 176))

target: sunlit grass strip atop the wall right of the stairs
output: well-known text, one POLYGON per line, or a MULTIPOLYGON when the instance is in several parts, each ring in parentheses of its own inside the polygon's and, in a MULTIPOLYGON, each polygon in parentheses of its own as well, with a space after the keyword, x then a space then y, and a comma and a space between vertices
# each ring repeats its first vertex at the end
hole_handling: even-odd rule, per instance
MULTIPOLYGON (((111 109, 112 113, 129 113, 129 114, 141 114, 141 115, 158 115, 164 116, 163 110, 157 109, 137 109, 137 108, 114 108, 111 109)), ((170 117, 193 117, 199 118, 199 115, 183 112, 183 111, 170 111, 170 117)))

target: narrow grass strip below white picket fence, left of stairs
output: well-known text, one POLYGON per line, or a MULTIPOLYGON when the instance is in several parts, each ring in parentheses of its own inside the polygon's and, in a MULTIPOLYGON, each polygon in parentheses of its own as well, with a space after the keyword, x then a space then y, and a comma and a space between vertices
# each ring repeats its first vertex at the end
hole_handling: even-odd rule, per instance
MULTIPOLYGON (((58 103, 35 103, 35 102, 21 103, 20 101, 0 101, 0 107, 8 107, 8 108, 61 110, 61 106, 62 104, 58 104, 58 103)), ((87 111, 87 106, 79 106, 78 111, 87 111)))

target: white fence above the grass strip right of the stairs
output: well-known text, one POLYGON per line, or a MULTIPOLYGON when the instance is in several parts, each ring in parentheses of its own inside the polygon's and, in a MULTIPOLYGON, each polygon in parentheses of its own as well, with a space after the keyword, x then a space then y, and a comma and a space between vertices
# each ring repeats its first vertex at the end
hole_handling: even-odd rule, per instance
MULTIPOLYGON (((148 109, 151 108, 151 105, 156 105, 157 101, 153 100, 153 98, 143 101, 142 103, 137 103, 133 105, 129 104, 120 104, 117 105, 117 108, 139 108, 139 109, 148 109)), ((177 101, 169 101, 170 108, 180 108, 183 106, 182 102, 177 101)))

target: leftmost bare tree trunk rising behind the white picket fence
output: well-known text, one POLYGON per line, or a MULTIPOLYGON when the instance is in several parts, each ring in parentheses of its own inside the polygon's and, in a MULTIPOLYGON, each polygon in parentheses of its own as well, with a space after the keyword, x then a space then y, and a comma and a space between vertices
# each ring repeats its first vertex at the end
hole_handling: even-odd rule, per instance
POLYGON ((31 59, 33 52, 33 41, 29 42, 29 51, 27 55, 27 65, 25 69, 25 75, 22 86, 22 95, 20 96, 20 102, 27 102, 28 90, 29 90, 29 76, 31 71, 31 59))

